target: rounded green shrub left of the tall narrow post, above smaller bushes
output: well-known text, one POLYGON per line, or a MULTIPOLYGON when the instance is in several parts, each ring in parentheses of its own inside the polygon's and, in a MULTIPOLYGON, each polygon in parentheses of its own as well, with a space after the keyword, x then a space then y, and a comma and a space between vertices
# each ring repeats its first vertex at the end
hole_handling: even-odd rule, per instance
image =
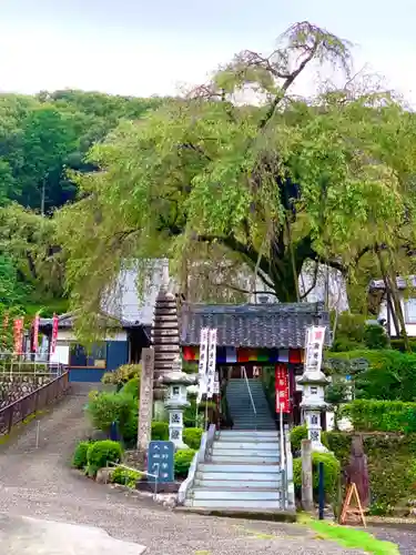
POLYGON ((87 413, 97 430, 109 433, 111 424, 116 422, 123 437, 126 435, 130 440, 132 422, 136 420, 138 402, 134 397, 121 393, 92 392, 87 413))

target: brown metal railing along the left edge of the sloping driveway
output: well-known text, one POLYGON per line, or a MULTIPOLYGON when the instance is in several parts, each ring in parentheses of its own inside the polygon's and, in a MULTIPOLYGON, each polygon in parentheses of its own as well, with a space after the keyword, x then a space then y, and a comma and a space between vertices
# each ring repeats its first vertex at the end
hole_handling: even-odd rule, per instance
POLYGON ((54 380, 41 385, 32 393, 10 403, 0 410, 0 436, 10 434, 13 426, 35 414, 61 397, 69 389, 69 373, 64 372, 54 380))

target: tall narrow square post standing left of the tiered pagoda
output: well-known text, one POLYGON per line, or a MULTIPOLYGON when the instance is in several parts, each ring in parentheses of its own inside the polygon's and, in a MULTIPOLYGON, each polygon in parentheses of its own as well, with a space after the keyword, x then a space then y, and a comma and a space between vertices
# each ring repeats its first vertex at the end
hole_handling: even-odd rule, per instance
POLYGON ((154 367, 153 349, 143 349, 142 374, 140 376, 139 425, 138 425, 138 451, 142 464, 144 464, 145 462, 148 446, 152 435, 153 367, 154 367))

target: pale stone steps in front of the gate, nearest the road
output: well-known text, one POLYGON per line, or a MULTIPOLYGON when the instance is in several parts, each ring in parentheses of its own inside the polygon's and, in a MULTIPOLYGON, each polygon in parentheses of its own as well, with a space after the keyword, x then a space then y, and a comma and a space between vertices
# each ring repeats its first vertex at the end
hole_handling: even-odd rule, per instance
POLYGON ((276 430, 217 432, 199 463, 184 505, 205 509, 283 511, 276 430))

